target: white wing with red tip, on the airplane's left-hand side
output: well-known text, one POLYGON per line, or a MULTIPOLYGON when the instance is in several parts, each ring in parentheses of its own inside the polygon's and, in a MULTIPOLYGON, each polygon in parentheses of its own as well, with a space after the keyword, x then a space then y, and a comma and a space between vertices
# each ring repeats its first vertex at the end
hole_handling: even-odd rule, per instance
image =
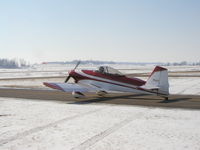
POLYGON ((50 82, 43 82, 43 84, 47 87, 52 89, 57 89, 64 92, 95 92, 96 88, 91 86, 84 86, 77 83, 50 83, 50 82))

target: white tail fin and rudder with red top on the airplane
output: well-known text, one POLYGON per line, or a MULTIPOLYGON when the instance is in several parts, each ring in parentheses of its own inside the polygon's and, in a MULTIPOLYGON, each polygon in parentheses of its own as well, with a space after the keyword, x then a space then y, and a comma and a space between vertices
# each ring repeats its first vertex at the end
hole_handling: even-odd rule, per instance
POLYGON ((169 95, 168 70, 156 66, 145 84, 145 88, 157 91, 159 95, 169 95))

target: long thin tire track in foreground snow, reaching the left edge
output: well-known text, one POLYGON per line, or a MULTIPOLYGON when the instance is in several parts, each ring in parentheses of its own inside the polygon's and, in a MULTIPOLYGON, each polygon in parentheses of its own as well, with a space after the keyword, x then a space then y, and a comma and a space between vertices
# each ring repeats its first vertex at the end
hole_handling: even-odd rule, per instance
POLYGON ((67 122, 67 121, 70 121, 70 120, 73 120, 73 119, 77 119, 77 118, 80 118, 80 117, 83 117, 83 116, 86 116, 86 115, 89 115, 89 114, 92 114, 92 113, 96 113, 96 112, 101 111, 101 110, 106 109, 106 108, 109 108, 109 107, 103 107, 103 108, 88 111, 88 112, 85 112, 85 113, 82 113, 82 114, 74 115, 74 116, 71 116, 71 117, 66 117, 64 119, 61 119, 61 120, 58 120, 58 121, 55 121, 55 122, 52 122, 52 123, 49 123, 49 124, 46 124, 46 125, 43 125, 43 126, 39 126, 39 127, 36 127, 36 128, 26 130, 26 131, 21 132, 21 133, 17 133, 16 135, 14 135, 12 137, 1 140, 0 146, 7 144, 8 142, 12 142, 12 141, 21 139, 21 138, 26 137, 28 135, 31 135, 33 133, 37 133, 37 132, 42 131, 46 128, 54 127, 58 124, 61 124, 61 123, 64 123, 64 122, 67 122))

